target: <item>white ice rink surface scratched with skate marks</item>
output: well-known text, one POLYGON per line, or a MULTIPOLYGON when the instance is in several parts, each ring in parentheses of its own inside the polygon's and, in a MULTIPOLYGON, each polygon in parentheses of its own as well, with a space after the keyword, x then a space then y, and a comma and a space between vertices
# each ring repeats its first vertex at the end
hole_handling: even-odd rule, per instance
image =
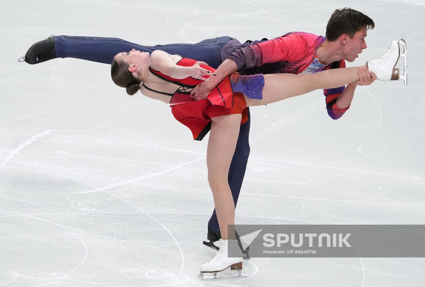
MULTIPOLYGON (((336 8, 375 22, 348 66, 408 45, 409 85, 357 87, 339 120, 322 91, 251 108, 237 224, 425 224, 425 1, 6 1, 0 12, 0 286, 425 286, 423 258, 253 258, 199 281, 213 209, 207 140, 127 96, 110 67, 17 59, 55 35, 142 45, 324 35, 336 8)), ((401 64, 401 63, 400 63, 401 64)))

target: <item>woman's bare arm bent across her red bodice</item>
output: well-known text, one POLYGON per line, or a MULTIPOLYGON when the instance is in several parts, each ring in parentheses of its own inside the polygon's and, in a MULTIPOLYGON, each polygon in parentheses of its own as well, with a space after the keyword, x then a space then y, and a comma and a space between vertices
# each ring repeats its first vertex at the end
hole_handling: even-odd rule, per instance
POLYGON ((198 61, 192 67, 182 67, 178 66, 173 59, 171 59, 171 55, 164 51, 156 50, 150 55, 150 67, 152 67, 152 69, 161 71, 165 75, 175 79, 193 77, 205 80, 205 78, 202 77, 211 75, 211 72, 200 67, 200 65, 207 65, 207 63, 198 61))

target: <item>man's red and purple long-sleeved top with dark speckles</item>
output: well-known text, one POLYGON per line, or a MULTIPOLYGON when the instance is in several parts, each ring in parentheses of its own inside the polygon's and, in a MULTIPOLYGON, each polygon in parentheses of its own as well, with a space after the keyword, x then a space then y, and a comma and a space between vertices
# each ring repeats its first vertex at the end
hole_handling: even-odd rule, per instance
MULTIPOLYGON (((241 44, 233 39, 221 51, 222 59, 231 59, 239 69, 246 67, 254 73, 275 74, 303 72, 318 72, 333 68, 346 67, 345 61, 340 60, 329 65, 317 61, 317 48, 325 41, 325 37, 305 32, 291 32, 281 37, 267 41, 253 41, 241 44), (229 53, 239 46, 233 53, 229 53), (229 55, 226 55, 229 53, 229 55), (260 68, 260 66, 262 66, 260 68)), ((337 120, 348 110, 340 109, 336 100, 344 91, 345 86, 323 90, 326 96, 326 108, 329 116, 337 120)))

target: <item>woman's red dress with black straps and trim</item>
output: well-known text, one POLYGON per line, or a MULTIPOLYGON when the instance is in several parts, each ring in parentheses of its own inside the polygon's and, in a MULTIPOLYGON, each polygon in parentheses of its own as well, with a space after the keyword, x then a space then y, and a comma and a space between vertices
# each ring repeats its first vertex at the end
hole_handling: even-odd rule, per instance
MULTIPOLYGON (((178 66, 191 67, 196 61, 183 58, 178 61, 178 66)), ((201 65, 202 68, 215 72, 215 69, 201 65)), ((190 98, 190 91, 197 85, 203 83, 193 77, 184 79, 171 78, 163 73, 153 70, 149 67, 149 71, 164 81, 171 82, 180 86, 173 94, 159 92, 148 88, 144 84, 145 89, 157 92, 162 95, 171 96, 170 106, 174 117, 180 123, 186 125, 192 131, 193 139, 202 140, 211 129, 211 118, 226 114, 242 114, 241 124, 248 120, 247 109, 244 95, 240 92, 234 92, 230 82, 230 77, 225 78, 217 87, 215 87, 205 100, 194 100, 190 98)), ((204 78, 208 78, 204 76, 204 78)))

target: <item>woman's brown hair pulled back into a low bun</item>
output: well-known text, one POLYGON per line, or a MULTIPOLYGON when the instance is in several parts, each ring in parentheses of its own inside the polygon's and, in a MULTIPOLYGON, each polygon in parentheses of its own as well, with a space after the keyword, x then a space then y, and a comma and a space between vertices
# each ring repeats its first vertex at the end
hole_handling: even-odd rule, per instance
POLYGON ((142 81, 135 78, 128 70, 129 65, 123 61, 116 61, 115 58, 111 63, 112 81, 122 88, 126 88, 127 94, 132 96, 140 89, 142 81))

